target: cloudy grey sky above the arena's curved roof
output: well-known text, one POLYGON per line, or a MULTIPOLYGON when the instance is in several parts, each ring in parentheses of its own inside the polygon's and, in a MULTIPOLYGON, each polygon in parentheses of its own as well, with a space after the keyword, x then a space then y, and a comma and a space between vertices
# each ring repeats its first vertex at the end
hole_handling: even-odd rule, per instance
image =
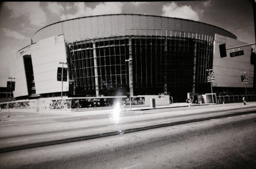
MULTIPOLYGON (((256 0, 255 0, 256 1, 256 0)), ((0 3, 0 87, 10 77, 11 56, 31 43, 39 29, 83 16, 146 14, 191 19, 232 32, 255 43, 252 0, 158 2, 2 2, 0 3)), ((254 46, 255 47, 255 46, 254 46)))

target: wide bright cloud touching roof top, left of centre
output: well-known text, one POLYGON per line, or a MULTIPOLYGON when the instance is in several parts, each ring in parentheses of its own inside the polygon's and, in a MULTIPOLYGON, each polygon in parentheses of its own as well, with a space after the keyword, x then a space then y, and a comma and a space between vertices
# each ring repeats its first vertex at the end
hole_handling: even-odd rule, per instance
MULTIPOLYGON (((76 14, 61 15, 61 20, 79 18, 82 16, 105 15, 105 14, 120 14, 122 12, 122 2, 104 2, 97 5, 94 9, 86 7, 84 2, 76 2, 73 9, 76 14)), ((66 9, 71 9, 69 6, 66 9)))

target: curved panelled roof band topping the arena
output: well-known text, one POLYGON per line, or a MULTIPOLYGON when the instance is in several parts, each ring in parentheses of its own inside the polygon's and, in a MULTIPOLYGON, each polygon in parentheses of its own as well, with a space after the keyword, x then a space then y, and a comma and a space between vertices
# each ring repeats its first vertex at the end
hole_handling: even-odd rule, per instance
MULTIPOLYGON (((93 35, 119 34, 127 29, 161 29, 163 31, 181 31, 201 33, 214 36, 215 33, 237 39, 236 35, 223 28, 216 27, 207 23, 197 22, 189 19, 171 18, 167 16, 140 15, 140 14, 109 14, 84 16, 80 18, 63 20, 49 24, 35 32, 33 41, 38 41, 50 36, 64 34, 65 39, 79 40, 76 37, 93 38, 93 35), (115 18, 117 17, 117 19, 115 18), (147 18, 147 19, 145 19, 147 18), (77 27, 78 24, 78 28, 77 27), (109 24, 110 23, 110 24, 109 24), (89 28, 90 27, 90 28, 89 28), (113 27, 115 28, 113 30, 113 27), (116 28, 118 27, 118 28, 116 28), (73 29, 73 30, 72 30, 73 29), (96 31, 97 29, 97 31, 96 31), (40 34, 40 35, 39 35, 40 34), (84 34, 84 36, 82 36, 84 34), (72 37, 72 38, 71 38, 72 37)), ((122 33, 121 33, 122 34, 122 33)), ((126 34, 124 32, 123 34, 126 34)), ((106 37, 106 36, 105 36, 106 37)))

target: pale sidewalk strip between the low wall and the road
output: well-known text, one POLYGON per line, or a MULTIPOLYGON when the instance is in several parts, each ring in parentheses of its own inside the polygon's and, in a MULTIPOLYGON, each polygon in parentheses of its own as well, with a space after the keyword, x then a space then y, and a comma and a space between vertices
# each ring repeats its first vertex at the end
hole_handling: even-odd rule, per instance
MULTIPOLYGON (((230 103, 232 104, 232 103, 230 103)), ((236 103, 240 105, 240 103, 236 103)), ((249 102, 250 105, 256 106, 256 102, 249 102)), ((212 103, 203 103, 203 104, 191 104, 191 103, 174 103, 170 105, 156 106, 155 108, 151 107, 142 107, 138 105, 132 105, 131 108, 129 105, 125 108, 120 108, 119 111, 146 111, 154 109, 163 109, 163 108, 181 108, 181 107, 196 107, 202 105, 214 105, 212 103)), ((219 104, 220 105, 220 104, 219 104)), ((229 104, 225 104, 229 105, 229 104)), ((242 105, 242 103, 241 103, 242 105)), ((2 109, 0 122, 7 121, 20 121, 20 120, 38 120, 38 119, 53 119, 60 117, 71 117, 71 116, 88 116, 88 115, 103 115, 113 112, 114 107, 102 107, 102 108, 87 108, 87 109, 73 109, 71 110, 51 110, 51 111, 40 111, 35 112, 31 110, 19 111, 19 109, 2 109), (9 117, 8 117, 9 116, 9 117)))

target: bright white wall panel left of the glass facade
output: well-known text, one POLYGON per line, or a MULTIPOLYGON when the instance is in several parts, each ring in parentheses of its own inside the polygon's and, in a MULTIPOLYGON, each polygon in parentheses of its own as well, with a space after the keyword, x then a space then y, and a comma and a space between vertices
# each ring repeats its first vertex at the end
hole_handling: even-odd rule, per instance
MULTIPOLYGON (((57 67, 62 67, 59 62, 67 62, 67 56, 64 41, 57 45, 53 41, 55 42, 54 36, 39 41, 40 49, 31 53, 36 94, 61 92, 61 82, 57 81, 57 67)), ((63 91, 67 87, 68 82, 63 82, 63 91)))

